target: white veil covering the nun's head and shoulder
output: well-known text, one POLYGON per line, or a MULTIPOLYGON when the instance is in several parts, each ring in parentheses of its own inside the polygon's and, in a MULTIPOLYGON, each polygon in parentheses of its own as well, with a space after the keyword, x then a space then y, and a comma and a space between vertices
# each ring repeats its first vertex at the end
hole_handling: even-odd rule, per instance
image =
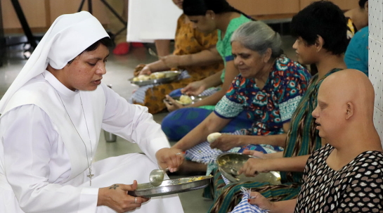
POLYGON ((60 70, 68 61, 104 37, 109 37, 108 33, 91 13, 82 11, 60 15, 1 98, 0 114, 4 112, 13 94, 30 79, 44 72, 48 64, 60 70))

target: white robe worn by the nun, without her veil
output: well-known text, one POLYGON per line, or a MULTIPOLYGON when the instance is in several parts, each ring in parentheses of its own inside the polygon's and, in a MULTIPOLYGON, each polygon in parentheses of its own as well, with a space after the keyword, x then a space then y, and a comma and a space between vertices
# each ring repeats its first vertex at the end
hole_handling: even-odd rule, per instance
MULTIPOLYGON (((1 213, 115 212, 96 207, 98 188, 148 182, 150 171, 158 167, 155 153, 169 147, 146 108, 130 105, 103 84, 96 91, 71 91, 45 71, 14 97, 0 117, 1 213), (86 150, 90 161, 101 128, 138 143, 146 155, 127 154, 93 163, 89 186, 86 150)), ((152 198, 134 212, 183 209, 177 195, 168 195, 152 198)))

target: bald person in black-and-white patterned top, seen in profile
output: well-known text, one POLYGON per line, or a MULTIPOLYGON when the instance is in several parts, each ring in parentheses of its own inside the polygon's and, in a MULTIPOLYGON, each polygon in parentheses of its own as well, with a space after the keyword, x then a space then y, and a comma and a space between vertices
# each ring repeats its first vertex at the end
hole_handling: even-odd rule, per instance
MULTIPOLYGON (((327 77, 313 111, 327 144, 306 162, 304 184, 295 200, 269 202, 253 192, 251 204, 273 212, 382 212, 383 153, 373 124, 375 93, 358 70, 327 77), (315 192, 315 193, 314 193, 315 192)), ((247 175, 245 165, 242 171, 247 175)))

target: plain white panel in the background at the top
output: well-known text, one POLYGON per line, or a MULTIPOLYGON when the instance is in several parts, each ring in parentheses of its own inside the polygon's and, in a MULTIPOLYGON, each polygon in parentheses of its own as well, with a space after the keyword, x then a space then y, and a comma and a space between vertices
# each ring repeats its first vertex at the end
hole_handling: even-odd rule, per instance
POLYGON ((129 0, 128 42, 174 39, 182 11, 171 0, 129 0))

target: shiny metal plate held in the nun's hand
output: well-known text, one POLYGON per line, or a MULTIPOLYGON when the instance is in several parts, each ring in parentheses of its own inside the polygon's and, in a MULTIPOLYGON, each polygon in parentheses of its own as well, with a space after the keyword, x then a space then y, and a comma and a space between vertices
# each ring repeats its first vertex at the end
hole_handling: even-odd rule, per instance
POLYGON ((209 185, 213 176, 192 176, 181 179, 164 180, 160 186, 152 186, 150 183, 138 184, 136 191, 129 191, 128 195, 152 198, 163 195, 171 195, 205 188, 209 185))

